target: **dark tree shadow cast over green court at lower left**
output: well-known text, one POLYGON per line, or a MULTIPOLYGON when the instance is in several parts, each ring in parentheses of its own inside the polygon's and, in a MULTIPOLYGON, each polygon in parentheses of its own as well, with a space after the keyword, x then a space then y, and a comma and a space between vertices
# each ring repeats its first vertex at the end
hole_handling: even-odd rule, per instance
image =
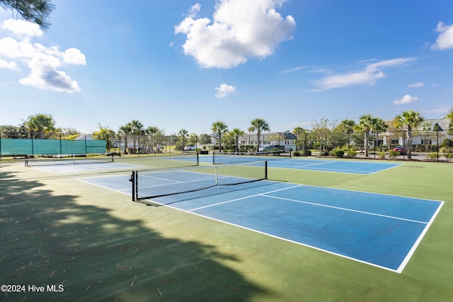
POLYGON ((1 301, 249 301, 275 295, 222 264, 246 260, 202 238, 166 235, 182 223, 200 223, 193 216, 175 221, 182 216, 165 207, 143 214, 142 205, 127 197, 109 199, 94 186, 87 197, 91 185, 84 182, 29 173, 39 175, 0 172, 0 284, 26 286, 25 292, 1 293, 1 301), (45 286, 45 292, 29 285, 45 286))

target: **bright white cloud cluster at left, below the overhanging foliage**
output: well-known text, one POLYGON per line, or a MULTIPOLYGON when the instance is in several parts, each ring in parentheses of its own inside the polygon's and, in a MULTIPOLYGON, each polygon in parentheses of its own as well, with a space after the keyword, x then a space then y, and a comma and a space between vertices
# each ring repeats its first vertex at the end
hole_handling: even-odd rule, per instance
POLYGON ((20 64, 27 64, 30 72, 19 80, 22 85, 67 93, 80 91, 77 81, 61 70, 69 64, 86 65, 80 50, 69 48, 62 52, 58 46, 33 44, 31 40, 43 33, 38 25, 27 21, 6 20, 0 28, 13 35, 0 39, 0 69, 19 70, 20 64))

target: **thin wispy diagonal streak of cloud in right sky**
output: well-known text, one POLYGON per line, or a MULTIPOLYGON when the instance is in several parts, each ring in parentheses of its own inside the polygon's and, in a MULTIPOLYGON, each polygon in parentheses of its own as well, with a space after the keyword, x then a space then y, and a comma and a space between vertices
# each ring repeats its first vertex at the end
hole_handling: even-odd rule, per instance
POLYGON ((333 88, 345 88, 356 85, 373 85, 377 80, 386 77, 383 69, 394 68, 408 64, 415 58, 398 58, 382 60, 379 62, 369 63, 357 71, 349 71, 343 74, 333 74, 319 81, 314 81, 314 85, 319 88, 316 91, 326 91, 333 88))

